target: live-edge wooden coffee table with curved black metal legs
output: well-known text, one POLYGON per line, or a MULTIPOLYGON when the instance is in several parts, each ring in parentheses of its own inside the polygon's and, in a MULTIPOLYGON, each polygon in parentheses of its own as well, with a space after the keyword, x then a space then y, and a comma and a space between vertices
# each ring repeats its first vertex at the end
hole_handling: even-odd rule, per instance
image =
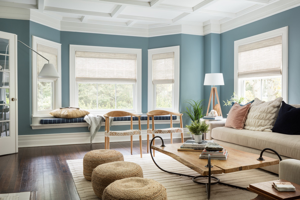
MULTIPOLYGON (((159 137, 159 136, 156 136, 156 137, 159 137)), ((152 140, 153 140, 153 138, 152 138, 152 140)), ((161 140, 162 140, 162 138, 161 138, 161 140)), ((162 140, 162 144, 164 144, 163 140, 162 140)), ((265 166, 269 166, 269 165, 279 164, 278 159, 269 158, 269 157, 264 156, 263 158, 265 160, 259 161, 259 160, 257 160, 257 158, 259 157, 259 155, 257 155, 257 154, 243 152, 243 151, 225 147, 225 146, 223 146, 223 147, 226 149, 226 151, 228 151, 227 160, 213 160, 213 159, 211 160, 210 155, 209 155, 208 159, 199 159, 199 155, 201 154, 200 152, 178 151, 177 148, 180 147, 181 145, 182 145, 182 143, 167 144, 167 145, 165 145, 165 147, 162 147, 160 145, 152 145, 152 141, 150 143, 151 149, 156 150, 158 152, 162 152, 162 153, 174 158, 175 160, 182 163, 183 165, 198 172, 200 174, 200 176, 191 176, 191 175, 179 174, 179 173, 175 173, 175 172, 168 172, 168 171, 160 168, 156 164, 156 162, 152 156, 152 151, 150 149, 150 154, 151 154, 152 160, 155 163, 155 165, 164 172, 191 177, 191 178, 193 178, 193 181, 195 183, 206 185, 206 192, 207 192, 208 199, 210 198, 211 185, 214 185, 217 183, 222 184, 222 185, 231 186, 234 188, 240 188, 240 189, 247 190, 247 188, 242 188, 239 186, 220 182, 220 180, 218 178, 213 177, 211 175, 238 172, 238 171, 242 171, 242 170, 255 169, 255 168, 265 167, 265 166), (200 178, 200 177, 208 177, 208 183, 202 183, 202 182, 198 182, 195 180, 196 178, 200 178), (211 179, 215 179, 217 181, 211 182, 211 179)))

